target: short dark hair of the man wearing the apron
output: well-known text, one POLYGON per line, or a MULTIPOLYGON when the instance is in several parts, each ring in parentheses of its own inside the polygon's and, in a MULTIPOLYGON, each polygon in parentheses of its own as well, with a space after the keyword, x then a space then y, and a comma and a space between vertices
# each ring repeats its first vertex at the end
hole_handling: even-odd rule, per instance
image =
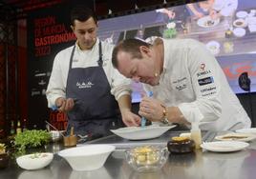
POLYGON ((96 13, 86 6, 79 5, 71 10, 71 24, 73 26, 75 25, 75 20, 84 22, 87 21, 90 17, 93 17, 95 22, 97 22, 96 13))

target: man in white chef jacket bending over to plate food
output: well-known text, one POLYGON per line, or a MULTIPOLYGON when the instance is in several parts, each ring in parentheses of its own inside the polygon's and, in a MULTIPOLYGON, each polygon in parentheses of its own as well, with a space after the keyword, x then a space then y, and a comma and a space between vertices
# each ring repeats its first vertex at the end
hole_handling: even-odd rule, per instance
POLYGON ((251 121, 230 89, 215 57, 192 39, 138 39, 120 42, 112 63, 124 76, 143 83, 153 97, 144 96, 139 114, 151 121, 201 129, 250 128, 251 121))

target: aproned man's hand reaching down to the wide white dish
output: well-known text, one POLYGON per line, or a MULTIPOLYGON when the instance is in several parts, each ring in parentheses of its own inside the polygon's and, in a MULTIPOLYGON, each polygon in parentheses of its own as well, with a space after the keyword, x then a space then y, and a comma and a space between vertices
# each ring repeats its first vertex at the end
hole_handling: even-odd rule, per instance
POLYGON ((127 127, 138 127, 140 125, 139 115, 133 113, 130 109, 121 110, 121 117, 127 127))

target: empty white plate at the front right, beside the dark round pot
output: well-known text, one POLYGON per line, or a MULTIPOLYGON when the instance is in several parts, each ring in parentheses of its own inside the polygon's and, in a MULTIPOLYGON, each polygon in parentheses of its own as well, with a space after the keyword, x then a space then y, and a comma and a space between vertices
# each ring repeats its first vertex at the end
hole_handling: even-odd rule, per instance
POLYGON ((215 152, 231 152, 245 149, 249 146, 248 143, 241 141, 218 141, 218 142, 207 142, 201 145, 201 148, 215 152))

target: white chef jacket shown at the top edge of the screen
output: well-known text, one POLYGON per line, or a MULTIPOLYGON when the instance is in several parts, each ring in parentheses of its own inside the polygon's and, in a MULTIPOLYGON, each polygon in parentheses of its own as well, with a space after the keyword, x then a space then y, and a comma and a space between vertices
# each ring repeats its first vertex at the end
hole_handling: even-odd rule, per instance
POLYGON ((212 9, 219 11, 224 16, 231 16, 237 7, 238 0, 215 0, 212 9))

